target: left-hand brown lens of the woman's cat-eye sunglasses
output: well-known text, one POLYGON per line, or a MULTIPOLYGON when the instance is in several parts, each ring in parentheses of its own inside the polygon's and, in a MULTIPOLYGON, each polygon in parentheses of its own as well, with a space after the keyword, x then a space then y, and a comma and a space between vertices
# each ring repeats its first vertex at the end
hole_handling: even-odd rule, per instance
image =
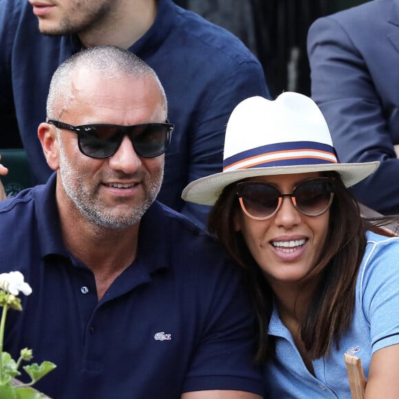
POLYGON ((267 218, 279 206, 279 191, 268 184, 254 183, 239 186, 238 195, 246 212, 255 218, 267 218))

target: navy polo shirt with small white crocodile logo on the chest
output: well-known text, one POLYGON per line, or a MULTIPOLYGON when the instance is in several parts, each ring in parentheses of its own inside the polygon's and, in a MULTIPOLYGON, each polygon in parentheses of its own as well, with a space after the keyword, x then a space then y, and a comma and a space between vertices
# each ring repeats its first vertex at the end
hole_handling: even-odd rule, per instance
POLYGON ((0 272, 21 270, 33 290, 8 312, 5 350, 57 365, 35 387, 56 399, 262 393, 252 310, 219 245, 155 202, 136 260, 98 301, 94 274, 61 239, 55 182, 0 203, 0 272))

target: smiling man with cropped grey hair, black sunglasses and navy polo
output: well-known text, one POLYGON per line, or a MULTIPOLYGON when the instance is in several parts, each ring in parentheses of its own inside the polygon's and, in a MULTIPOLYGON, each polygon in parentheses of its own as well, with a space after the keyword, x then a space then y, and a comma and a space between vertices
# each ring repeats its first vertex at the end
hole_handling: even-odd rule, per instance
POLYGON ((38 129, 55 173, 0 203, 0 272, 32 287, 4 349, 57 365, 35 385, 52 398, 261 398, 239 271, 155 200, 167 115, 158 76, 131 52, 75 54, 38 129))

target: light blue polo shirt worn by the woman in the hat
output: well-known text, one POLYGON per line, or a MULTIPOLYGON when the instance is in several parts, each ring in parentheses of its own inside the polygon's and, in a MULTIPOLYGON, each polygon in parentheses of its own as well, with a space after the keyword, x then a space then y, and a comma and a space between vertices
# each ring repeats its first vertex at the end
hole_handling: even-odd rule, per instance
POLYGON ((399 237, 367 233, 367 246, 356 283, 354 318, 339 349, 313 360, 306 369, 289 330, 274 308, 269 334, 276 336, 277 360, 265 367, 270 398, 351 398, 344 354, 358 349, 365 376, 372 354, 399 343, 399 237))

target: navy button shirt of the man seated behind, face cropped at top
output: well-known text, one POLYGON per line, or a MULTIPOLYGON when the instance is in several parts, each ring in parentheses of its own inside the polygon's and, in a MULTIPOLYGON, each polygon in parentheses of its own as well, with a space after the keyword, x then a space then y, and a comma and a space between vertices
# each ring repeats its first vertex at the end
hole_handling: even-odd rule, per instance
MULTIPOLYGON (((45 120, 52 74, 80 45, 69 36, 41 34, 27 0, 0 1, 0 43, 0 111, 14 101, 32 171, 43 183, 51 171, 37 127, 45 120)), ((231 111, 244 98, 269 97, 263 69, 233 34, 171 0, 158 0, 153 26, 130 50, 157 72, 175 124, 158 199, 204 226, 208 207, 183 202, 180 195, 189 182, 222 171, 231 111)))

